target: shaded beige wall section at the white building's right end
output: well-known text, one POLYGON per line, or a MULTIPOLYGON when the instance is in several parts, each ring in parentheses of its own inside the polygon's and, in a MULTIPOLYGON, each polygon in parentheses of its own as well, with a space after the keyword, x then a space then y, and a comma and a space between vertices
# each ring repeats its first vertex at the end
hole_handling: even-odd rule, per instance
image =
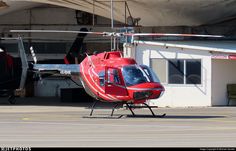
POLYGON ((212 60, 212 105, 227 105, 228 83, 236 83, 236 60, 212 60))

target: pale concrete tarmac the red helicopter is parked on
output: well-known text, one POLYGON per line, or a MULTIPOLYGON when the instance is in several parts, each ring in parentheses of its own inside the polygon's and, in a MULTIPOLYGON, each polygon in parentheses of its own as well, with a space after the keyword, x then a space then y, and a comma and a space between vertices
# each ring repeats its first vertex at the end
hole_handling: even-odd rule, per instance
POLYGON ((50 98, 0 99, 0 147, 236 147, 235 107, 98 108, 50 98))

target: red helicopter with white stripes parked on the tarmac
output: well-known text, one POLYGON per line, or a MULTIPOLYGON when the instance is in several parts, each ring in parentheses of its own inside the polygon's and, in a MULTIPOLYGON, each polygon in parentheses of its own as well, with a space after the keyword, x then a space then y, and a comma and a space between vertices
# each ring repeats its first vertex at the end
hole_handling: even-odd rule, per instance
MULTIPOLYGON (((114 45, 116 38, 122 36, 184 36, 184 37, 211 37, 219 38, 217 35, 193 35, 193 34, 163 34, 163 33, 109 33, 88 31, 56 31, 56 30, 12 30, 11 32, 63 32, 78 33, 77 42, 83 41, 87 34, 95 34, 113 37, 114 45)), ((75 45, 76 46, 76 45, 75 45)), ((78 47, 78 46, 77 46, 78 47)), ((127 108, 135 116, 133 104, 144 104, 154 117, 164 117, 166 114, 157 116, 152 108, 146 104, 149 99, 156 99, 163 95, 165 88, 151 68, 138 65, 133 58, 124 58, 121 51, 109 51, 99 54, 88 55, 80 64, 71 60, 69 52, 64 58, 65 64, 35 64, 33 70, 40 75, 44 73, 70 75, 71 79, 82 86, 85 91, 97 101, 92 105, 90 116, 98 101, 115 103, 112 109, 113 116, 115 108, 119 104, 126 104, 127 108), (72 64, 71 64, 72 63, 72 64)), ((35 55, 33 55, 35 56, 35 55)))

